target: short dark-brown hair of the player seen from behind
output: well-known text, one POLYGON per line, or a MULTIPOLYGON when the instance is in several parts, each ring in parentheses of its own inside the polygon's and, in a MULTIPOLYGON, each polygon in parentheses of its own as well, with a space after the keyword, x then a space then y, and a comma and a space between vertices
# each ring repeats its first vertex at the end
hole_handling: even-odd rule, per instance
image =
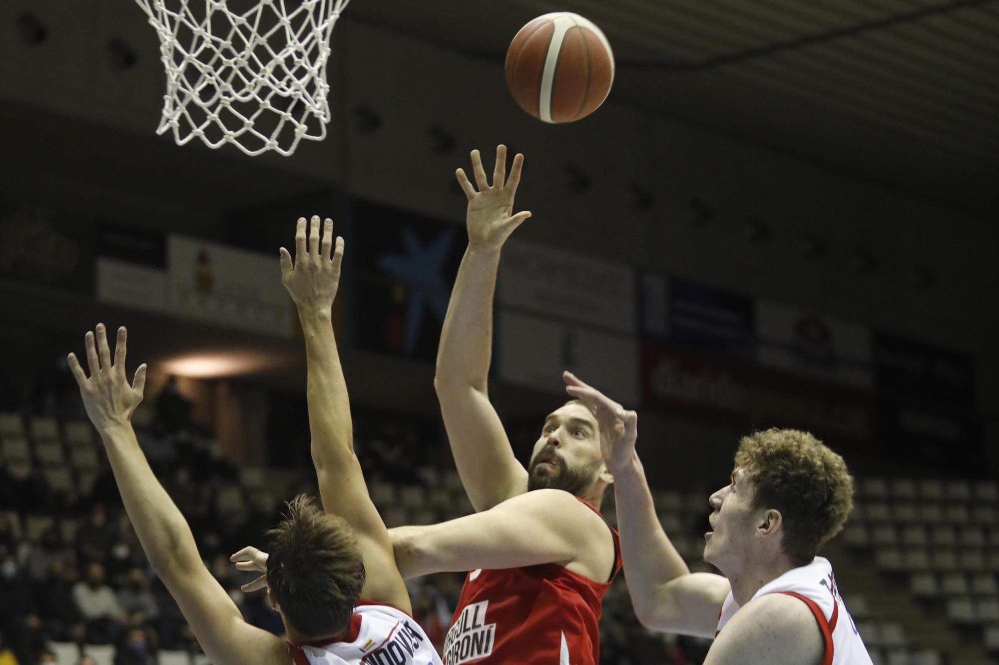
POLYGON ((314 637, 346 630, 365 585, 365 562, 350 525, 299 494, 267 535, 267 584, 285 618, 314 637))

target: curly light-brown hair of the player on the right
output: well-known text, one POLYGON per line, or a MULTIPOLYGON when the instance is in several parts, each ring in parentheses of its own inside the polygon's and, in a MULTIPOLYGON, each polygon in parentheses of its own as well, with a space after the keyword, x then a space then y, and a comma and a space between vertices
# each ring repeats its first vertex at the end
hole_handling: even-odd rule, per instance
POLYGON ((839 533, 853 509, 846 462, 806 431, 771 427, 743 436, 735 466, 755 489, 753 507, 780 511, 784 552, 799 566, 839 533))

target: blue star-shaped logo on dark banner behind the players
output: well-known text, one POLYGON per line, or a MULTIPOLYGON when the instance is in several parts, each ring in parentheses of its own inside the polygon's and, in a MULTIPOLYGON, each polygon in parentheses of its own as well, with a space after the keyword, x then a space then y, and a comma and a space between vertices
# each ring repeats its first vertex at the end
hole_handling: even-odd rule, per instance
POLYGON ((406 306, 404 349, 413 353, 424 321, 424 311, 430 308, 438 321, 448 314, 448 285, 445 282, 445 262, 455 243, 455 230, 447 229, 427 245, 411 229, 403 229, 406 254, 384 254, 378 267, 410 287, 406 306))

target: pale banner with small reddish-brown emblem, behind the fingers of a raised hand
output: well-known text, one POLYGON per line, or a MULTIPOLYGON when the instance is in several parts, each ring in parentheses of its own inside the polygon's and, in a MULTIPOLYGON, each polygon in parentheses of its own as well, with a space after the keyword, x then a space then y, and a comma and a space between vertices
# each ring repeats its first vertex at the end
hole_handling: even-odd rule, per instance
POLYGON ((273 257, 170 236, 170 309, 178 316, 256 333, 291 336, 292 301, 273 257))

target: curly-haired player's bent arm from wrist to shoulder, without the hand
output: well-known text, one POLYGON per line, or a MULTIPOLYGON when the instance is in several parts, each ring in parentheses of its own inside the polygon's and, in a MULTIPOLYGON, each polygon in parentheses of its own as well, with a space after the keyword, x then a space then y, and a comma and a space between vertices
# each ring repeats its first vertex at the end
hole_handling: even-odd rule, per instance
POLYGON ((713 637, 728 580, 690 573, 656 517, 637 454, 613 475, 621 563, 638 621, 653 630, 713 637))

